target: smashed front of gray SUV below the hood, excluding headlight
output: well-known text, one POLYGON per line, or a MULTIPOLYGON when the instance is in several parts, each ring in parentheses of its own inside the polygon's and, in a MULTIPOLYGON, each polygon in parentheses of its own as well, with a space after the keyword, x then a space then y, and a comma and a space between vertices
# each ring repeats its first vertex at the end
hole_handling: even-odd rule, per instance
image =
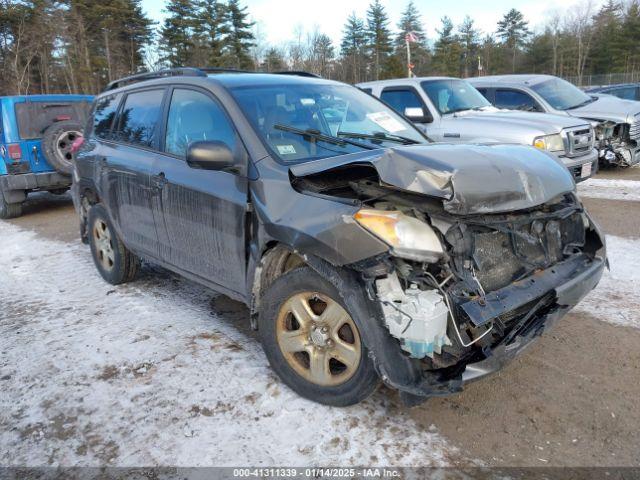
POLYGON ((426 209, 401 205, 400 198, 372 206, 429 225, 441 250, 433 243, 431 258, 420 259, 392 249, 355 268, 389 333, 419 367, 409 383, 388 378, 408 403, 459 391, 498 370, 602 276, 604 238, 574 193, 485 215, 452 215, 431 202, 426 209))

